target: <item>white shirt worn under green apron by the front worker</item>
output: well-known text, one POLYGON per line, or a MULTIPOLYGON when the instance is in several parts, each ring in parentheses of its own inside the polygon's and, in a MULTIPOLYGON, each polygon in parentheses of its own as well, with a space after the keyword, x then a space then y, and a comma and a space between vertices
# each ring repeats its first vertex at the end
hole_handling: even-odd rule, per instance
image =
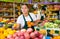
MULTIPOLYGON (((35 16, 33 13, 29 13, 29 14, 30 14, 30 16, 32 17, 33 21, 36 21, 36 20, 37 20, 36 16, 35 16)), ((31 18, 29 17, 29 15, 28 15, 27 17, 25 17, 25 19, 26 19, 26 21, 31 21, 31 18)), ((24 19, 23 19, 23 15, 20 15, 20 16, 17 18, 17 23, 18 23, 18 24, 21 24, 21 28, 24 27, 25 21, 24 21, 24 19)))

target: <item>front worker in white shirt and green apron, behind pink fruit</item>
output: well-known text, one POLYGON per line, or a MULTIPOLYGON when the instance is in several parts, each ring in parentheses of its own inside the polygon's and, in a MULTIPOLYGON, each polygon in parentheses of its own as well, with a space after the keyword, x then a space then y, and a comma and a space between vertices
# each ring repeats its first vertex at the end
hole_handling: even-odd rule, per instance
POLYGON ((34 29, 34 26, 37 24, 36 22, 37 19, 35 15, 29 12, 29 8, 26 4, 21 5, 21 11, 22 14, 18 17, 17 24, 20 26, 21 29, 22 28, 27 29, 29 28, 27 22, 31 21, 34 23, 34 25, 31 28, 34 29))

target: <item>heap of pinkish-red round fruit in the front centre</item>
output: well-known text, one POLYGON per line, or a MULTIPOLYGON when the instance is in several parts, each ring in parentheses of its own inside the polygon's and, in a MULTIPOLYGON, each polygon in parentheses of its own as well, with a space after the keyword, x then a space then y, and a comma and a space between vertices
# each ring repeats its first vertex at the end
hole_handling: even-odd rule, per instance
POLYGON ((32 28, 27 30, 21 29, 16 31, 13 35, 8 35, 6 39, 42 39, 43 35, 38 31, 33 31, 32 28))

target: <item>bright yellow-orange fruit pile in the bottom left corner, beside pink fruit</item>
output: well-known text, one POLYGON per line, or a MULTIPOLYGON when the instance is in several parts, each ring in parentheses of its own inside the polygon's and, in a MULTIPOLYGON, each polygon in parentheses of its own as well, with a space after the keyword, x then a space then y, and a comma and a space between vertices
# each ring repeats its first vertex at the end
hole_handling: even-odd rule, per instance
POLYGON ((16 31, 11 28, 5 29, 3 27, 0 28, 0 39, 5 39, 8 35, 13 35, 16 31))

